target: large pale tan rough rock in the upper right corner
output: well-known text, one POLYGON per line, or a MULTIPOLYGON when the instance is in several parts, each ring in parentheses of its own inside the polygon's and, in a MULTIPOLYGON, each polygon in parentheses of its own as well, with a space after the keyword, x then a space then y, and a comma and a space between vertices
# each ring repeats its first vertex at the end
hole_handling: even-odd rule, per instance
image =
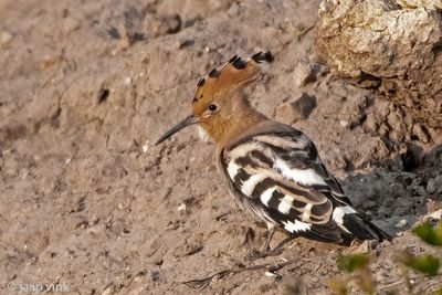
POLYGON ((349 77, 403 76, 434 60, 441 41, 441 19, 434 10, 402 10, 388 0, 333 1, 319 7, 319 57, 349 77))

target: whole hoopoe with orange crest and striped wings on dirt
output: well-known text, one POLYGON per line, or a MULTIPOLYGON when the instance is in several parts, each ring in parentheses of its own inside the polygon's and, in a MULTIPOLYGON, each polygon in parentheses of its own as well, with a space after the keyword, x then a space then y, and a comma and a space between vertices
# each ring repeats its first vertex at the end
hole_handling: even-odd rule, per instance
POLYGON ((263 252, 276 226, 323 242, 389 238, 352 208, 306 135, 250 106, 242 88, 260 76, 261 64, 272 61, 266 51, 248 61, 233 56, 220 71, 212 70, 198 82, 193 114, 157 145, 192 124, 210 135, 236 203, 267 225, 263 252))

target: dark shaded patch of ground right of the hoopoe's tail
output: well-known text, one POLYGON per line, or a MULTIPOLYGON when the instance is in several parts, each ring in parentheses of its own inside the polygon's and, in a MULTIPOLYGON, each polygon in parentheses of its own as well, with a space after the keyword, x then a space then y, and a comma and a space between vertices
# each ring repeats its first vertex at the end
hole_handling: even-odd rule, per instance
POLYGON ((442 209, 442 183, 434 183, 442 175, 442 146, 425 152, 408 144, 401 156, 371 165, 370 172, 347 171, 339 182, 358 211, 390 235, 442 209))

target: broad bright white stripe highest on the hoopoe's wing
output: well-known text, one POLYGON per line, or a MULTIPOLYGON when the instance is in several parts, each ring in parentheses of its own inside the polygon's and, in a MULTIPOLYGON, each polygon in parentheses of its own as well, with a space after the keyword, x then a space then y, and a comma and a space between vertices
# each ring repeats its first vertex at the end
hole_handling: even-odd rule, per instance
POLYGON ((305 186, 327 186, 324 179, 318 173, 316 173, 314 169, 294 169, 288 167, 288 165, 280 158, 276 158, 273 165, 273 169, 281 172, 285 178, 305 186))

